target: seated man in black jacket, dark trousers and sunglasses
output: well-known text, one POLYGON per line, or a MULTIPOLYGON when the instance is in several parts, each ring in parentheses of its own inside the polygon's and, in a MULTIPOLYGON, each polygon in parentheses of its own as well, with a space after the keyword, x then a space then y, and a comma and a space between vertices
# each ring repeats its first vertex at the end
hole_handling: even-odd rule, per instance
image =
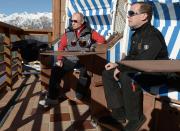
MULTIPOLYGON (((128 12, 128 22, 134 33, 131 37, 130 50, 124 60, 168 59, 164 38, 151 25, 151 17, 151 5, 143 2, 132 4, 128 12)), ((145 121, 145 116, 142 90, 132 83, 137 71, 118 63, 108 63, 105 69, 102 80, 107 105, 112 110, 113 119, 120 122, 128 119, 125 131, 138 130, 145 121)), ((136 78, 136 82, 142 86, 160 84, 164 81, 165 76, 161 74, 143 74, 136 78)))

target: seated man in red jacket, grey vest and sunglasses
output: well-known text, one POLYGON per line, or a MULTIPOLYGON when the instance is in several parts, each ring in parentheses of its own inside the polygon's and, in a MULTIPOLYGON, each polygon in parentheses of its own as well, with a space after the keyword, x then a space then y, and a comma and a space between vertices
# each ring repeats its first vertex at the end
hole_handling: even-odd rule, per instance
MULTIPOLYGON (((74 13, 71 19, 72 27, 69 27, 61 38, 59 51, 81 51, 93 47, 93 44, 105 44, 105 38, 91 29, 84 21, 84 16, 81 13, 74 13)), ((61 78, 74 68, 80 69, 80 77, 78 80, 76 97, 81 99, 83 93, 82 87, 87 84, 86 68, 79 64, 79 59, 76 56, 58 56, 56 65, 51 70, 49 81, 48 95, 44 100, 39 101, 40 105, 47 107, 48 105, 58 103, 58 85, 61 78)))

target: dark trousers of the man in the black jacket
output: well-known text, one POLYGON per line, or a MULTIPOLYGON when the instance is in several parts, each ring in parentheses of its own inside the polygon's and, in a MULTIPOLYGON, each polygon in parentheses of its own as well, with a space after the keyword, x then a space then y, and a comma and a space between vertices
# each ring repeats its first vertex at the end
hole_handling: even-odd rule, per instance
MULTIPOLYGON (((114 69, 105 70, 102 73, 108 107, 111 109, 124 109, 128 120, 139 119, 143 114, 143 93, 141 87, 136 85, 135 90, 132 88, 132 78, 134 78, 135 73, 133 71, 120 72, 119 82, 121 83, 121 88, 113 77, 114 69)), ((165 81, 165 77, 159 74, 139 75, 135 79, 136 83, 141 86, 161 84, 165 81)))

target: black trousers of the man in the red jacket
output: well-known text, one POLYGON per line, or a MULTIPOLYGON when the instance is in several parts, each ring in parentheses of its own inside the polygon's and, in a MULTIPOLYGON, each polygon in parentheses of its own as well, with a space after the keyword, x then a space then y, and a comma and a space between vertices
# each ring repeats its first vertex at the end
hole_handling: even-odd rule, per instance
POLYGON ((78 68, 80 70, 80 78, 78 80, 78 90, 80 86, 83 87, 86 84, 86 68, 79 63, 73 63, 68 59, 63 61, 63 66, 53 66, 51 69, 51 76, 49 80, 49 87, 48 87, 48 98, 50 99, 57 99, 59 95, 59 84, 61 79, 64 75, 70 71, 73 71, 74 68, 78 68))

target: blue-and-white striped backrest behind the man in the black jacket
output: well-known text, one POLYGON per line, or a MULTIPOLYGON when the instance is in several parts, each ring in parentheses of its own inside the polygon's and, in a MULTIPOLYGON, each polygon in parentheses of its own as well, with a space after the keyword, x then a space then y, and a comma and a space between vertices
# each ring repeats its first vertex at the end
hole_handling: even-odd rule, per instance
MULTIPOLYGON (((152 25, 159 29, 168 46, 169 57, 171 59, 180 59, 180 2, 179 0, 131 0, 150 2, 153 6, 152 25)), ((119 40, 113 48, 108 50, 107 60, 111 62, 119 61, 122 54, 127 54, 130 46, 130 37, 132 31, 126 26, 123 39, 119 40)))

